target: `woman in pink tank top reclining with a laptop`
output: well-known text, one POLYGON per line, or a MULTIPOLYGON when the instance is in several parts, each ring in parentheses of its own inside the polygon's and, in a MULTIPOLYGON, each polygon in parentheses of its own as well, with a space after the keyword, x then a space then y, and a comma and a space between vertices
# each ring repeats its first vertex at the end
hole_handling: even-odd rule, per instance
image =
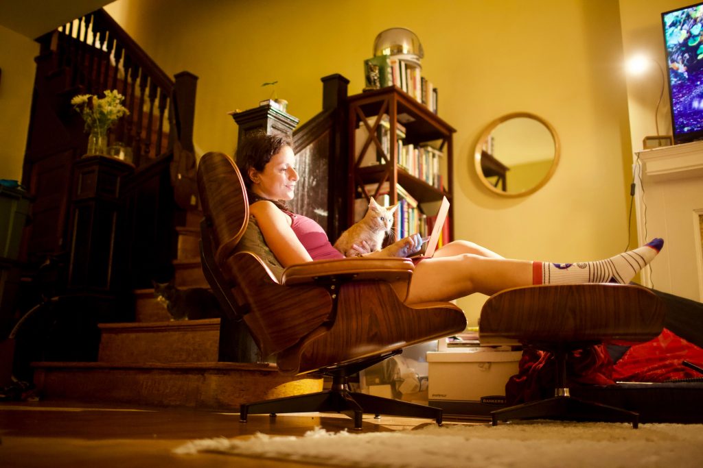
MULTIPOLYGON (((266 246, 283 268, 314 260, 344 258, 335 250, 320 225, 291 213, 283 204, 293 198, 298 174, 290 141, 278 135, 254 133, 243 138, 236 154, 250 215, 266 246)), ((408 257, 420 250, 419 234, 367 252, 368 257, 408 257)), ((534 284, 620 283, 627 284, 656 257, 664 245, 654 239, 634 250, 595 262, 548 263, 511 260, 468 241, 453 241, 432 258, 418 262, 406 302, 453 300, 472 293, 492 295, 500 290, 534 284)))

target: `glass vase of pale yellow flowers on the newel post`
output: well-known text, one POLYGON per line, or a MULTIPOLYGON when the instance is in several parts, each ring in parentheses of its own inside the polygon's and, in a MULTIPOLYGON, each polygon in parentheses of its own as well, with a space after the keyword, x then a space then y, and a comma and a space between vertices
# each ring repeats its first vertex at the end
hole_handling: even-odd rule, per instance
POLYGON ((108 155, 108 129, 129 111, 122 105, 124 96, 117 90, 106 90, 104 98, 96 95, 79 94, 71 104, 83 117, 86 132, 89 133, 85 156, 108 155))

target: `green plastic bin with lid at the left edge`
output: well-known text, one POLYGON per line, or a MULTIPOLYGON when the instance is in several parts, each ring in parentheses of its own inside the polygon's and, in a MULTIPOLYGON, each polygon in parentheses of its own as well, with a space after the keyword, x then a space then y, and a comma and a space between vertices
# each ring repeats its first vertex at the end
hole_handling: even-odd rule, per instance
POLYGON ((25 190, 0 185, 0 257, 17 260, 30 204, 25 190))

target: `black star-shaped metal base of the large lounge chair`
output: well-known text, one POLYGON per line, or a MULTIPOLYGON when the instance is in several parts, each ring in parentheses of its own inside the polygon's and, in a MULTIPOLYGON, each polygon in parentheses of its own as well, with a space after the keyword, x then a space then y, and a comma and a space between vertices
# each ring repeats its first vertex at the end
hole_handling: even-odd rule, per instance
POLYGON ((363 413, 403 417, 426 417, 441 426, 442 410, 433 406, 418 405, 381 396, 349 392, 346 377, 335 376, 332 389, 304 395, 259 401, 240 405, 239 420, 246 422, 250 414, 311 413, 335 411, 354 420, 354 429, 361 430, 363 413))

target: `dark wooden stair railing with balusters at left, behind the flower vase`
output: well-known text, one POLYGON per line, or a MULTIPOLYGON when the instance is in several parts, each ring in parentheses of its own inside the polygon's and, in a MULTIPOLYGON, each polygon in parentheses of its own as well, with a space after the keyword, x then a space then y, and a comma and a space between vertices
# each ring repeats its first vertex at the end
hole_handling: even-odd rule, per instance
MULTIPOLYGON (((112 271, 106 276, 110 284, 103 290, 121 294, 130 288, 148 288, 155 272, 172 265, 175 228, 183 225, 186 210, 198 208, 197 201, 192 202, 198 77, 189 72, 169 77, 102 9, 37 41, 40 53, 23 175, 35 199, 27 258, 32 265, 41 265, 46 257, 60 256, 70 259, 70 271, 86 267, 78 262, 88 261, 83 253, 91 242, 75 242, 78 233, 71 220, 78 201, 86 203, 85 196, 77 199, 76 181, 83 177, 77 174, 77 165, 81 171, 88 170, 82 159, 87 135, 70 100, 78 94, 102 96, 105 90, 115 89, 124 95, 129 115, 117 121, 108 137, 110 145, 122 145, 127 156, 131 155, 134 169, 120 175, 118 198, 110 200, 120 207, 115 211, 120 229, 105 248, 124 248, 120 247, 119 265, 106 266, 112 271), (113 279, 120 281, 113 284, 113 279)), ((112 166, 99 161, 94 166, 96 173, 112 171, 112 166)), ((98 179, 98 184, 105 182, 98 179)), ((110 191, 110 187, 98 187, 96 194, 102 193, 100 189, 110 191)), ((100 216, 96 213, 96 222, 100 216)), ((85 216, 82 222, 88 222, 85 216)), ((82 288, 72 278, 65 283, 75 290, 82 288)))

